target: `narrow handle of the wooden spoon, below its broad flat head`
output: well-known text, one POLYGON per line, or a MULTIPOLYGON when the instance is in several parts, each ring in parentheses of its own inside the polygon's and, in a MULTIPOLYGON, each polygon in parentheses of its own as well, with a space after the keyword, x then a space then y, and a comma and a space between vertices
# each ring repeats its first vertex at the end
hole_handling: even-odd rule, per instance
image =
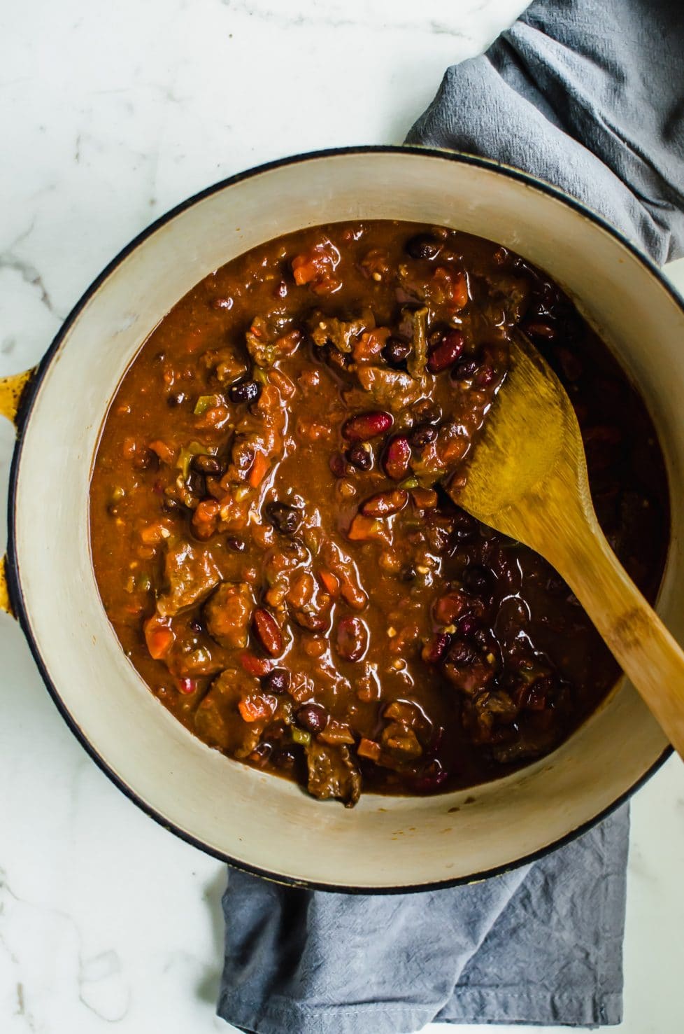
POLYGON ((618 560, 593 510, 577 517, 564 528, 560 522, 548 558, 684 759, 684 651, 618 560))

